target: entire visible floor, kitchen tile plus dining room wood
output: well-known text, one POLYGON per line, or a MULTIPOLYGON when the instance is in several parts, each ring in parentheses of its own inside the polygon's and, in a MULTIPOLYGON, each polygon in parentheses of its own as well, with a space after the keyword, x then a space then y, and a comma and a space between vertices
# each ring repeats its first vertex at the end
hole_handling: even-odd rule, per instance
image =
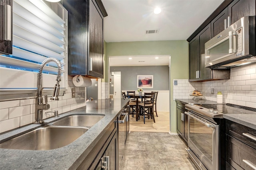
POLYGON ((158 112, 156 123, 130 115, 130 133, 120 170, 196 170, 178 135, 170 135, 169 112, 158 112))

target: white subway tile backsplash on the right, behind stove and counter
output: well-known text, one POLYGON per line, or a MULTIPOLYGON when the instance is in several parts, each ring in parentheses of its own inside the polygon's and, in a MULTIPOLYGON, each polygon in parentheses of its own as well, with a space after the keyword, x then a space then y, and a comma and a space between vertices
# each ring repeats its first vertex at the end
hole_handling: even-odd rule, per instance
POLYGON ((216 101, 216 94, 221 91, 225 103, 238 104, 256 108, 256 63, 231 68, 229 80, 214 80, 208 82, 188 82, 186 79, 177 79, 178 85, 173 82, 173 100, 175 98, 193 98, 193 96, 183 96, 182 88, 192 86, 189 91, 198 89, 207 100, 216 101), (214 88, 214 94, 211 94, 214 88))

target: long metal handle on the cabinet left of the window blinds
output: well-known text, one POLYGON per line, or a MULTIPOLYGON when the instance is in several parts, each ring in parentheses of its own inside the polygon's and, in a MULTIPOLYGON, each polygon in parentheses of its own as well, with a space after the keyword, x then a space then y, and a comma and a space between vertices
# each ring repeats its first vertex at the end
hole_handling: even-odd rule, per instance
POLYGON ((4 6, 4 39, 12 41, 12 6, 4 6))

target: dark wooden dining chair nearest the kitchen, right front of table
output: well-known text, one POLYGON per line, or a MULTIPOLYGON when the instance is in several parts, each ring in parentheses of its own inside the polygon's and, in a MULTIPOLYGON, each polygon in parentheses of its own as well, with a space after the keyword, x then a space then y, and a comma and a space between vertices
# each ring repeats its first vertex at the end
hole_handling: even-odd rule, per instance
POLYGON ((140 114, 138 119, 140 119, 140 115, 143 115, 144 118, 144 124, 145 124, 145 118, 151 118, 155 121, 154 117, 154 98, 155 98, 155 92, 151 93, 144 93, 144 102, 139 104, 140 107, 140 114))

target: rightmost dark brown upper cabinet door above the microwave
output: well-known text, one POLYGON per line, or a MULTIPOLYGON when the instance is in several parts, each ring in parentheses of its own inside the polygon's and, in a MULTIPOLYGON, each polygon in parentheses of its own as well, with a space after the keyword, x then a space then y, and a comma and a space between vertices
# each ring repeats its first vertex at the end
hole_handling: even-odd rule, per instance
POLYGON ((235 23, 244 16, 255 16, 255 0, 234 0, 228 6, 228 16, 231 17, 231 23, 235 23))

